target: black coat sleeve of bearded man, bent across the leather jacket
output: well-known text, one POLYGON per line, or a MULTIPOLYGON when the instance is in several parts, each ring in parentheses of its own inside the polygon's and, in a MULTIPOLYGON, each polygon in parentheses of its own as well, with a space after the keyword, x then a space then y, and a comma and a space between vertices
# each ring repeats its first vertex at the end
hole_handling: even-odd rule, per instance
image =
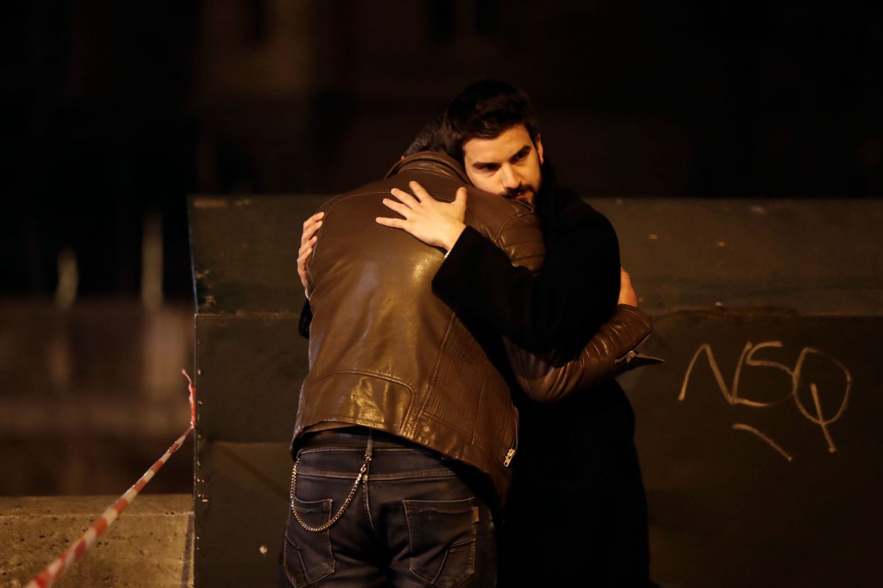
POLYGON ((539 275, 515 268, 471 228, 436 272, 433 286, 452 305, 486 320, 528 351, 582 349, 619 298, 619 245, 604 215, 582 205, 547 235, 539 275))

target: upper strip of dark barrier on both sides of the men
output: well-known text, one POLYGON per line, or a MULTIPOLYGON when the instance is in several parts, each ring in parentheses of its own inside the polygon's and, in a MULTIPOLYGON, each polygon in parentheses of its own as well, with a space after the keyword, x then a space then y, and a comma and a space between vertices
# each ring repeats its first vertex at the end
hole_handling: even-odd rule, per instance
MULTIPOLYGON (((193 197, 199 313, 300 312, 300 223, 330 194, 193 197)), ((883 313, 883 202, 592 198, 653 313, 775 308, 883 313)))

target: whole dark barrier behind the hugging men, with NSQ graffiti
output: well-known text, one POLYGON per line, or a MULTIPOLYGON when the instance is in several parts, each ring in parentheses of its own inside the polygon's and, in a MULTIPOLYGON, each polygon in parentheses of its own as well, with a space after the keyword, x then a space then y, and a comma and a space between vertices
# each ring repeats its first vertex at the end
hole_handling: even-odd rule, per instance
MULTIPOLYGON (((197 586, 273 585, 306 340, 295 271, 319 196, 190 203, 197 586)), ((623 376, 652 574, 870 585, 883 526, 879 200, 594 199, 666 358, 623 376)), ((373 222, 368 220, 367 222, 373 222)))

